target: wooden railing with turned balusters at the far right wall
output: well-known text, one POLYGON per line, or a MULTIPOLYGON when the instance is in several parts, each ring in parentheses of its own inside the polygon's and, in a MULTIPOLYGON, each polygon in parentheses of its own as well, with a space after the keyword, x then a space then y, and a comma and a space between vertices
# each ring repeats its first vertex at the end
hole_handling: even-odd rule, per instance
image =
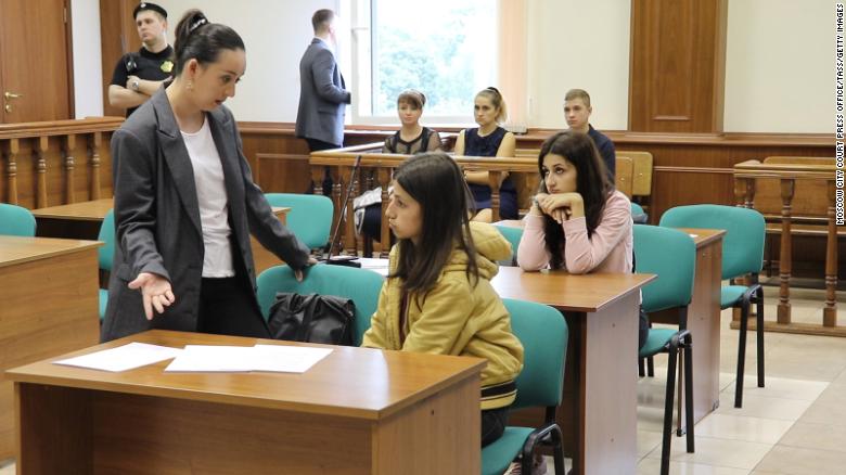
MULTIPOLYGON (((761 211, 771 231, 772 223, 780 223, 779 304, 771 330, 846 336, 846 328, 837 326, 837 238, 846 234, 846 229, 836 226, 834 172, 833 158, 821 162, 772 157, 764 163, 747 161, 734 166, 738 206, 761 211), (774 200, 780 200, 779 214, 773 213, 774 200), (791 322, 792 243, 797 234, 825 235, 825 306, 821 325, 791 322)), ((767 322, 768 330, 770 323, 767 322)))

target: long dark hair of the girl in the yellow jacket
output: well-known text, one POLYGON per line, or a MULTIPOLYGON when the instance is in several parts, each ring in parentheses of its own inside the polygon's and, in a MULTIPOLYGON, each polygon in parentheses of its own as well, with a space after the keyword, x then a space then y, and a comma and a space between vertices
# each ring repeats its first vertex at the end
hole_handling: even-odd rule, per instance
POLYGON ((467 279, 475 285, 478 267, 470 234, 470 190, 456 162, 443 152, 415 155, 397 168, 394 180, 420 203, 423 226, 419 245, 398 241, 399 262, 390 277, 401 278, 405 292, 425 300, 458 245, 467 254, 467 279))

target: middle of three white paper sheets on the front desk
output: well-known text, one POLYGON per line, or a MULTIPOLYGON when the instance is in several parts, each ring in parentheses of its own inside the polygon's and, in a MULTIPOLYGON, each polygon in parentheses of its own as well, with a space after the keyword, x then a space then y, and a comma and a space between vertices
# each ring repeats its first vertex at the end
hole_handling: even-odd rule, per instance
POLYGON ((253 352, 252 346, 185 345, 165 372, 248 372, 253 352))

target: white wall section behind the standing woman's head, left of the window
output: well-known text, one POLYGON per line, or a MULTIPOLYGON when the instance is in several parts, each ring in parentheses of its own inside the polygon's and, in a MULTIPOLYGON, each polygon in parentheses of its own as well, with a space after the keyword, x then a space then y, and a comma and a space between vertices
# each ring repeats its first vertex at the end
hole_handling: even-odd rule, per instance
POLYGON ((313 38, 311 15, 337 11, 338 0, 161 0, 168 40, 182 14, 200 8, 209 21, 234 28, 244 39, 247 68, 227 105, 239 120, 293 123, 299 103, 299 59, 313 38))

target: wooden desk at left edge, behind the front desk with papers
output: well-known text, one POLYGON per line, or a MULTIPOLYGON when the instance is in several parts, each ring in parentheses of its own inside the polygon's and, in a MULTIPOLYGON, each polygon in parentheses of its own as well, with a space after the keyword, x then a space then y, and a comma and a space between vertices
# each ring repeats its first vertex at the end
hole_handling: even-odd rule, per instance
MULTIPOLYGON (((0 371, 98 342, 99 246, 0 236, 0 371)), ((13 414, 12 383, 0 382, 0 460, 15 453, 13 414)))

